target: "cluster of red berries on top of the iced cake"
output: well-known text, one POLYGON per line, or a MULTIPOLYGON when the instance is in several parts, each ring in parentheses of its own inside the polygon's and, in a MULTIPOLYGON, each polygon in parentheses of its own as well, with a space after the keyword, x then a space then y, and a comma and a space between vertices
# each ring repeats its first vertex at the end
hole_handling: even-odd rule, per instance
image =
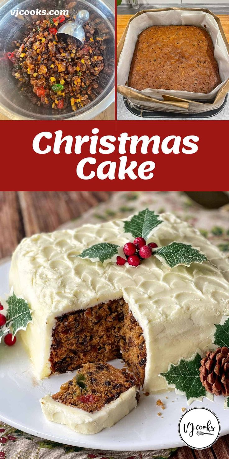
POLYGON ((123 247, 123 252, 125 253, 126 260, 123 257, 116 258, 116 263, 119 266, 122 266, 126 263, 129 263, 131 266, 138 266, 142 259, 149 258, 152 255, 152 249, 156 248, 157 244, 155 242, 150 242, 146 244, 146 241, 143 237, 136 237, 134 242, 127 242, 123 247))

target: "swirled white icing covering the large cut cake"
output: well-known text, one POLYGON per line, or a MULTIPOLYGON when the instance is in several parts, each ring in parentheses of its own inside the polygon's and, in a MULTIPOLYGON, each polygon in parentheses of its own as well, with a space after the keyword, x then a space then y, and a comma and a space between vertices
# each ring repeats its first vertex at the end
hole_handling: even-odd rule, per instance
POLYGON ((123 220, 84 225, 24 239, 12 257, 10 284, 33 310, 22 338, 35 374, 50 374, 49 353, 55 317, 100 302, 123 297, 140 323, 147 348, 144 389, 166 387, 158 376, 169 362, 190 357, 209 343, 213 324, 229 315, 229 262, 216 246, 173 214, 161 214, 163 223, 148 238, 158 246, 177 241, 199 248, 209 261, 168 270, 150 257, 133 268, 72 257, 98 242, 122 246, 130 240, 123 220), (210 263, 211 262, 211 263, 210 263))

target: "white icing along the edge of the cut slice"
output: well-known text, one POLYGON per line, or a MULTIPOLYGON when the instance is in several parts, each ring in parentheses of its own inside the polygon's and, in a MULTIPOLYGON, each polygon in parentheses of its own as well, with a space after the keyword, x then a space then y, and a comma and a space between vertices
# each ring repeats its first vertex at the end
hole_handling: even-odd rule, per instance
POLYGON ((65 424, 79 433, 92 434, 105 427, 112 427, 136 407, 136 387, 131 387, 119 398, 93 413, 57 402, 50 395, 41 398, 40 403, 47 420, 65 424))

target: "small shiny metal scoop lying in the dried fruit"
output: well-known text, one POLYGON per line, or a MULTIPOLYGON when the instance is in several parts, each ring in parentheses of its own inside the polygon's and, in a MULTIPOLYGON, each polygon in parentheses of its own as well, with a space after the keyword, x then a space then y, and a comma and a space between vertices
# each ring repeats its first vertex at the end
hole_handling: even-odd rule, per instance
POLYGON ((63 24, 57 32, 57 35, 61 35, 61 39, 67 40, 67 42, 76 41, 76 45, 82 48, 85 41, 85 33, 82 27, 85 22, 89 19, 89 12, 87 10, 80 10, 76 15, 75 22, 69 21, 63 24))

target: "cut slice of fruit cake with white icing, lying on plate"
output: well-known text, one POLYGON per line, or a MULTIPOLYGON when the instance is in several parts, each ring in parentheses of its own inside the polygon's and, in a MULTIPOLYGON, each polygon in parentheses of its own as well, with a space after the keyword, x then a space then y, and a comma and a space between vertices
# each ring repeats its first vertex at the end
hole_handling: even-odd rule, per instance
POLYGON ((134 377, 107 363, 84 364, 76 376, 54 395, 41 398, 49 421, 72 430, 93 434, 111 427, 136 407, 138 390, 134 377))

